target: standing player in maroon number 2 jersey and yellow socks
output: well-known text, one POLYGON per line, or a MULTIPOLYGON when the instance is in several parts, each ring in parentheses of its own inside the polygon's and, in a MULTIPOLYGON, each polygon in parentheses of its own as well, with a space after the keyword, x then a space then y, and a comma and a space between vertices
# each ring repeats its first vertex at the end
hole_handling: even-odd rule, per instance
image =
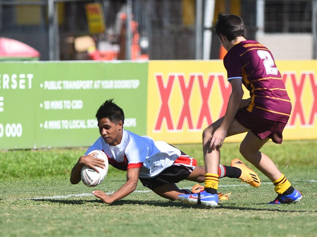
POLYGON ((217 206, 219 149, 226 137, 247 132, 240 145, 243 157, 272 180, 278 196, 270 204, 301 200, 301 193, 277 169, 273 161, 259 150, 269 140, 282 142, 282 131, 292 109, 291 101, 272 53, 255 40, 246 40, 243 20, 237 15, 220 13, 216 33, 228 51, 223 58, 232 92, 225 115, 203 133, 206 167, 205 191, 199 196, 179 195, 184 203, 217 206), (250 98, 243 100, 242 84, 250 98))

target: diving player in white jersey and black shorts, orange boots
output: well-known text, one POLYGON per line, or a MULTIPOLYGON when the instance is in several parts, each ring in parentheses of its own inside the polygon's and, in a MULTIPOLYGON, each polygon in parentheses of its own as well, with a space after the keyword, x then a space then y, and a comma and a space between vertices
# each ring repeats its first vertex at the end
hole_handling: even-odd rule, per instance
MULTIPOLYGON (((113 103, 113 99, 105 101, 100 106, 96 118, 101 136, 73 167, 70 176, 72 184, 80 182, 81 168, 84 165, 97 172, 96 167, 104 167, 103 160, 93 157, 93 154, 87 155, 92 150, 104 151, 109 164, 126 171, 126 183, 113 194, 107 195, 100 190, 93 191, 96 197, 107 204, 132 193, 137 187, 138 179, 159 196, 170 200, 178 200, 179 194, 192 193, 187 189, 180 190, 175 183, 184 179, 204 182, 205 169, 197 166, 196 159, 168 143, 154 141, 151 137, 139 136, 124 130, 124 112, 113 103)), ((260 186, 257 174, 239 159, 234 159, 231 166, 219 165, 219 177, 237 178, 254 187, 260 186)), ((200 187, 203 190, 203 187, 200 187)))

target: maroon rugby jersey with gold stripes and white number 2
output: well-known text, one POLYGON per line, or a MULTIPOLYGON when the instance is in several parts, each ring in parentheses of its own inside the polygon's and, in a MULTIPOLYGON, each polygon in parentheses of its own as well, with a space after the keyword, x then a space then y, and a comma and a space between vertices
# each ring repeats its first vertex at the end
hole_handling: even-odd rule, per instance
POLYGON ((223 58, 228 81, 242 78, 250 91, 251 102, 246 109, 265 119, 287 123, 292 105, 273 55, 255 40, 234 45, 223 58))

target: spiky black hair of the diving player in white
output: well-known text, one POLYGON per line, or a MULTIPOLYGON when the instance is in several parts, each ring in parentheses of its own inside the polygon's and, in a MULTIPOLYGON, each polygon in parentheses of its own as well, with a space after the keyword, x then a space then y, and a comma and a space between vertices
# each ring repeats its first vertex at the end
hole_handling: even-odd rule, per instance
POLYGON ((96 118, 98 120, 108 118, 111 122, 115 124, 118 124, 119 121, 122 121, 122 124, 124 124, 123 110, 112 101, 113 99, 106 100, 105 103, 103 103, 99 107, 96 113, 96 118))

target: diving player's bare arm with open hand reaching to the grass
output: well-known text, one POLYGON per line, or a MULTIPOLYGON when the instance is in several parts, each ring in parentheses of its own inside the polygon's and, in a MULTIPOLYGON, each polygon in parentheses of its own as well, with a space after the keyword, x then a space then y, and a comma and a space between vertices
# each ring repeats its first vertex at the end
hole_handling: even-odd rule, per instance
POLYGON ((105 192, 100 190, 93 191, 93 194, 96 197, 99 197, 104 203, 111 204, 114 201, 120 200, 126 196, 128 196, 130 193, 132 193, 138 184, 139 174, 140 174, 141 168, 130 168, 126 172, 126 183, 122 185, 118 191, 114 192, 111 195, 107 195, 105 192))

